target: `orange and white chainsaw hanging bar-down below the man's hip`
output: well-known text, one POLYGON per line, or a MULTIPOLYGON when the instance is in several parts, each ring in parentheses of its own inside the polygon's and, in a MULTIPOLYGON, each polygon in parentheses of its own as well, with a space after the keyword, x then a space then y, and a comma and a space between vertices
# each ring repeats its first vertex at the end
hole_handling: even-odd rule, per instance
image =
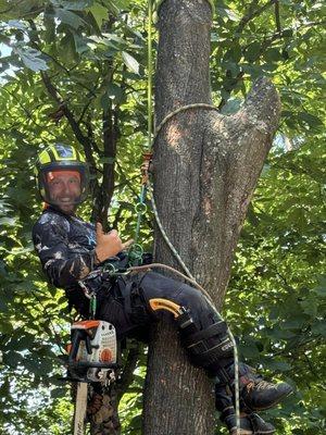
POLYGON ((74 435, 84 435, 88 385, 109 386, 115 381, 116 335, 114 326, 104 321, 86 320, 72 324, 66 381, 77 383, 74 435))

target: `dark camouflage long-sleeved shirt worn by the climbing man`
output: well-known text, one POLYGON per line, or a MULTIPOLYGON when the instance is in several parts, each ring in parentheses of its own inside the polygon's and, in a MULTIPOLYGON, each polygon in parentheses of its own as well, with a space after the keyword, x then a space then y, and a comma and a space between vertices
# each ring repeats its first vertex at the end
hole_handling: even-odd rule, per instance
POLYGON ((77 287, 95 269, 95 225, 48 208, 33 227, 45 273, 55 287, 77 287))

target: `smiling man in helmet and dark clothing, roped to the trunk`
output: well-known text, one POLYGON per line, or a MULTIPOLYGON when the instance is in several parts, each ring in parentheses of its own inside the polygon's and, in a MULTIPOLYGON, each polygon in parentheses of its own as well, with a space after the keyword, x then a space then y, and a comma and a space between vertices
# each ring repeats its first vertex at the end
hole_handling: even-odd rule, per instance
MULTIPOLYGON (((125 262, 123 243, 116 231, 104 233, 79 219, 75 212, 87 197, 89 174, 83 154, 70 145, 55 144, 42 150, 37 160, 36 181, 46 207, 33 228, 33 240, 45 273, 57 287, 64 288, 70 304, 85 318, 89 299, 79 281, 105 262, 125 262)), ((112 323, 118 338, 156 321, 150 301, 161 298, 180 307, 175 318, 180 343, 192 363, 203 368, 215 382, 215 403, 230 434, 236 431, 235 366, 233 343, 227 325, 203 295, 181 282, 152 271, 96 282, 96 318, 112 323)), ((291 393, 286 383, 272 384, 244 363, 239 364, 241 434, 273 434, 275 428, 256 411, 268 409, 291 393)))

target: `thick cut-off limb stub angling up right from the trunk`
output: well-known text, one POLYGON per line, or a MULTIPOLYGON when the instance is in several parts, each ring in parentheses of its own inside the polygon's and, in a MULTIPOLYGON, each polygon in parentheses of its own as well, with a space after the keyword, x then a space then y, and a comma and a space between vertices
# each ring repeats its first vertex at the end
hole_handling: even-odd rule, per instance
MULTIPOLYGON (((201 173, 204 186, 201 208, 205 222, 215 222, 215 285, 209 282, 212 297, 222 304, 229 279, 234 251, 247 209, 272 146, 278 125, 280 102, 274 85, 266 78, 255 82, 243 108, 231 116, 215 114, 203 147, 201 173), (210 208, 208 208, 208 202, 210 208), (220 260, 218 260, 220 257, 220 260)), ((198 217, 201 222, 203 216, 198 217)), ((198 231, 197 237, 204 237, 198 231)), ((208 249, 213 246, 209 244, 208 249)), ((204 250, 201 256, 204 256, 204 250)), ((210 270, 205 271, 210 275, 210 270)))

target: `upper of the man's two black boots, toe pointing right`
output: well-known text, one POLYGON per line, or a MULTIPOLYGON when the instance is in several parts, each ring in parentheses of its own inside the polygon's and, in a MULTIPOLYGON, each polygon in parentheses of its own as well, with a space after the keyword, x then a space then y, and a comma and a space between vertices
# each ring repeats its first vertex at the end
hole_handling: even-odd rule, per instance
POLYGON ((247 411, 273 408, 292 393, 289 384, 285 382, 272 384, 264 381, 254 369, 243 363, 239 365, 239 386, 241 410, 247 411))

